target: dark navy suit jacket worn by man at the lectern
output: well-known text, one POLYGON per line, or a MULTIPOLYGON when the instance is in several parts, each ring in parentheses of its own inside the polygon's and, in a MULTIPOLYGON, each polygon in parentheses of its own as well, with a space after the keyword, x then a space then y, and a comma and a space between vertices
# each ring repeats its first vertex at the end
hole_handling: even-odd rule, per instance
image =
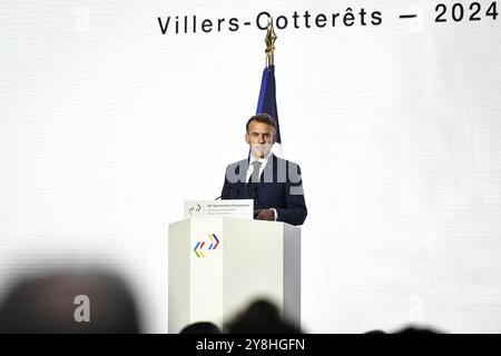
POLYGON ((275 208, 278 221, 302 225, 307 210, 299 166, 272 155, 259 182, 246 184, 248 161, 226 168, 222 199, 254 199, 255 209, 275 208))

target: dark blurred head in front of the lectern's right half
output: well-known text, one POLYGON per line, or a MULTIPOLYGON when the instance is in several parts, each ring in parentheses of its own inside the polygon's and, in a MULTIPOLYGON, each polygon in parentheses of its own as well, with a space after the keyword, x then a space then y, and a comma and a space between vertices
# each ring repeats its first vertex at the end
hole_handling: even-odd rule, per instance
POLYGON ((285 322, 278 308, 267 300, 256 300, 228 323, 229 334, 301 334, 295 325, 285 322))

